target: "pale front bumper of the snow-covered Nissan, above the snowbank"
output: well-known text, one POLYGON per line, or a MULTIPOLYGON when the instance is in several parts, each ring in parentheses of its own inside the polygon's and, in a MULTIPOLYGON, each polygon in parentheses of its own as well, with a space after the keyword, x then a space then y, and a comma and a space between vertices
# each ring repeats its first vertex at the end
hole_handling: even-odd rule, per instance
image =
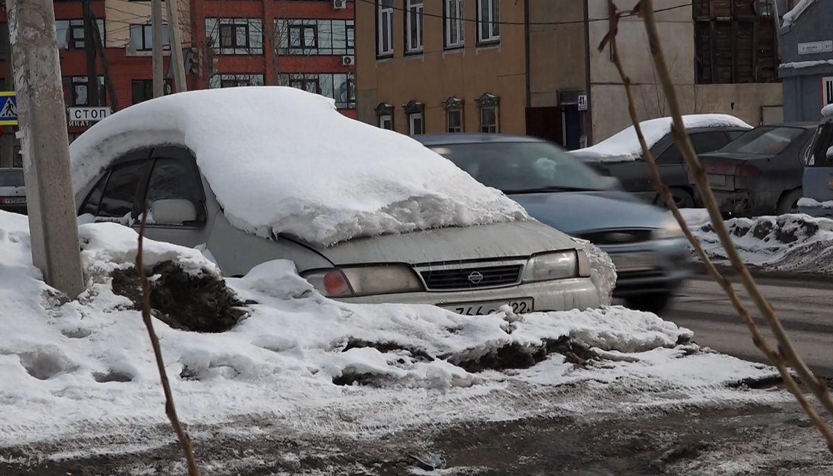
POLYGON ((491 290, 451 292, 413 292, 392 295, 368 295, 339 298, 352 304, 426 304, 447 305, 497 300, 532 298, 535 312, 595 308, 600 304, 599 293, 590 278, 542 281, 491 290))

